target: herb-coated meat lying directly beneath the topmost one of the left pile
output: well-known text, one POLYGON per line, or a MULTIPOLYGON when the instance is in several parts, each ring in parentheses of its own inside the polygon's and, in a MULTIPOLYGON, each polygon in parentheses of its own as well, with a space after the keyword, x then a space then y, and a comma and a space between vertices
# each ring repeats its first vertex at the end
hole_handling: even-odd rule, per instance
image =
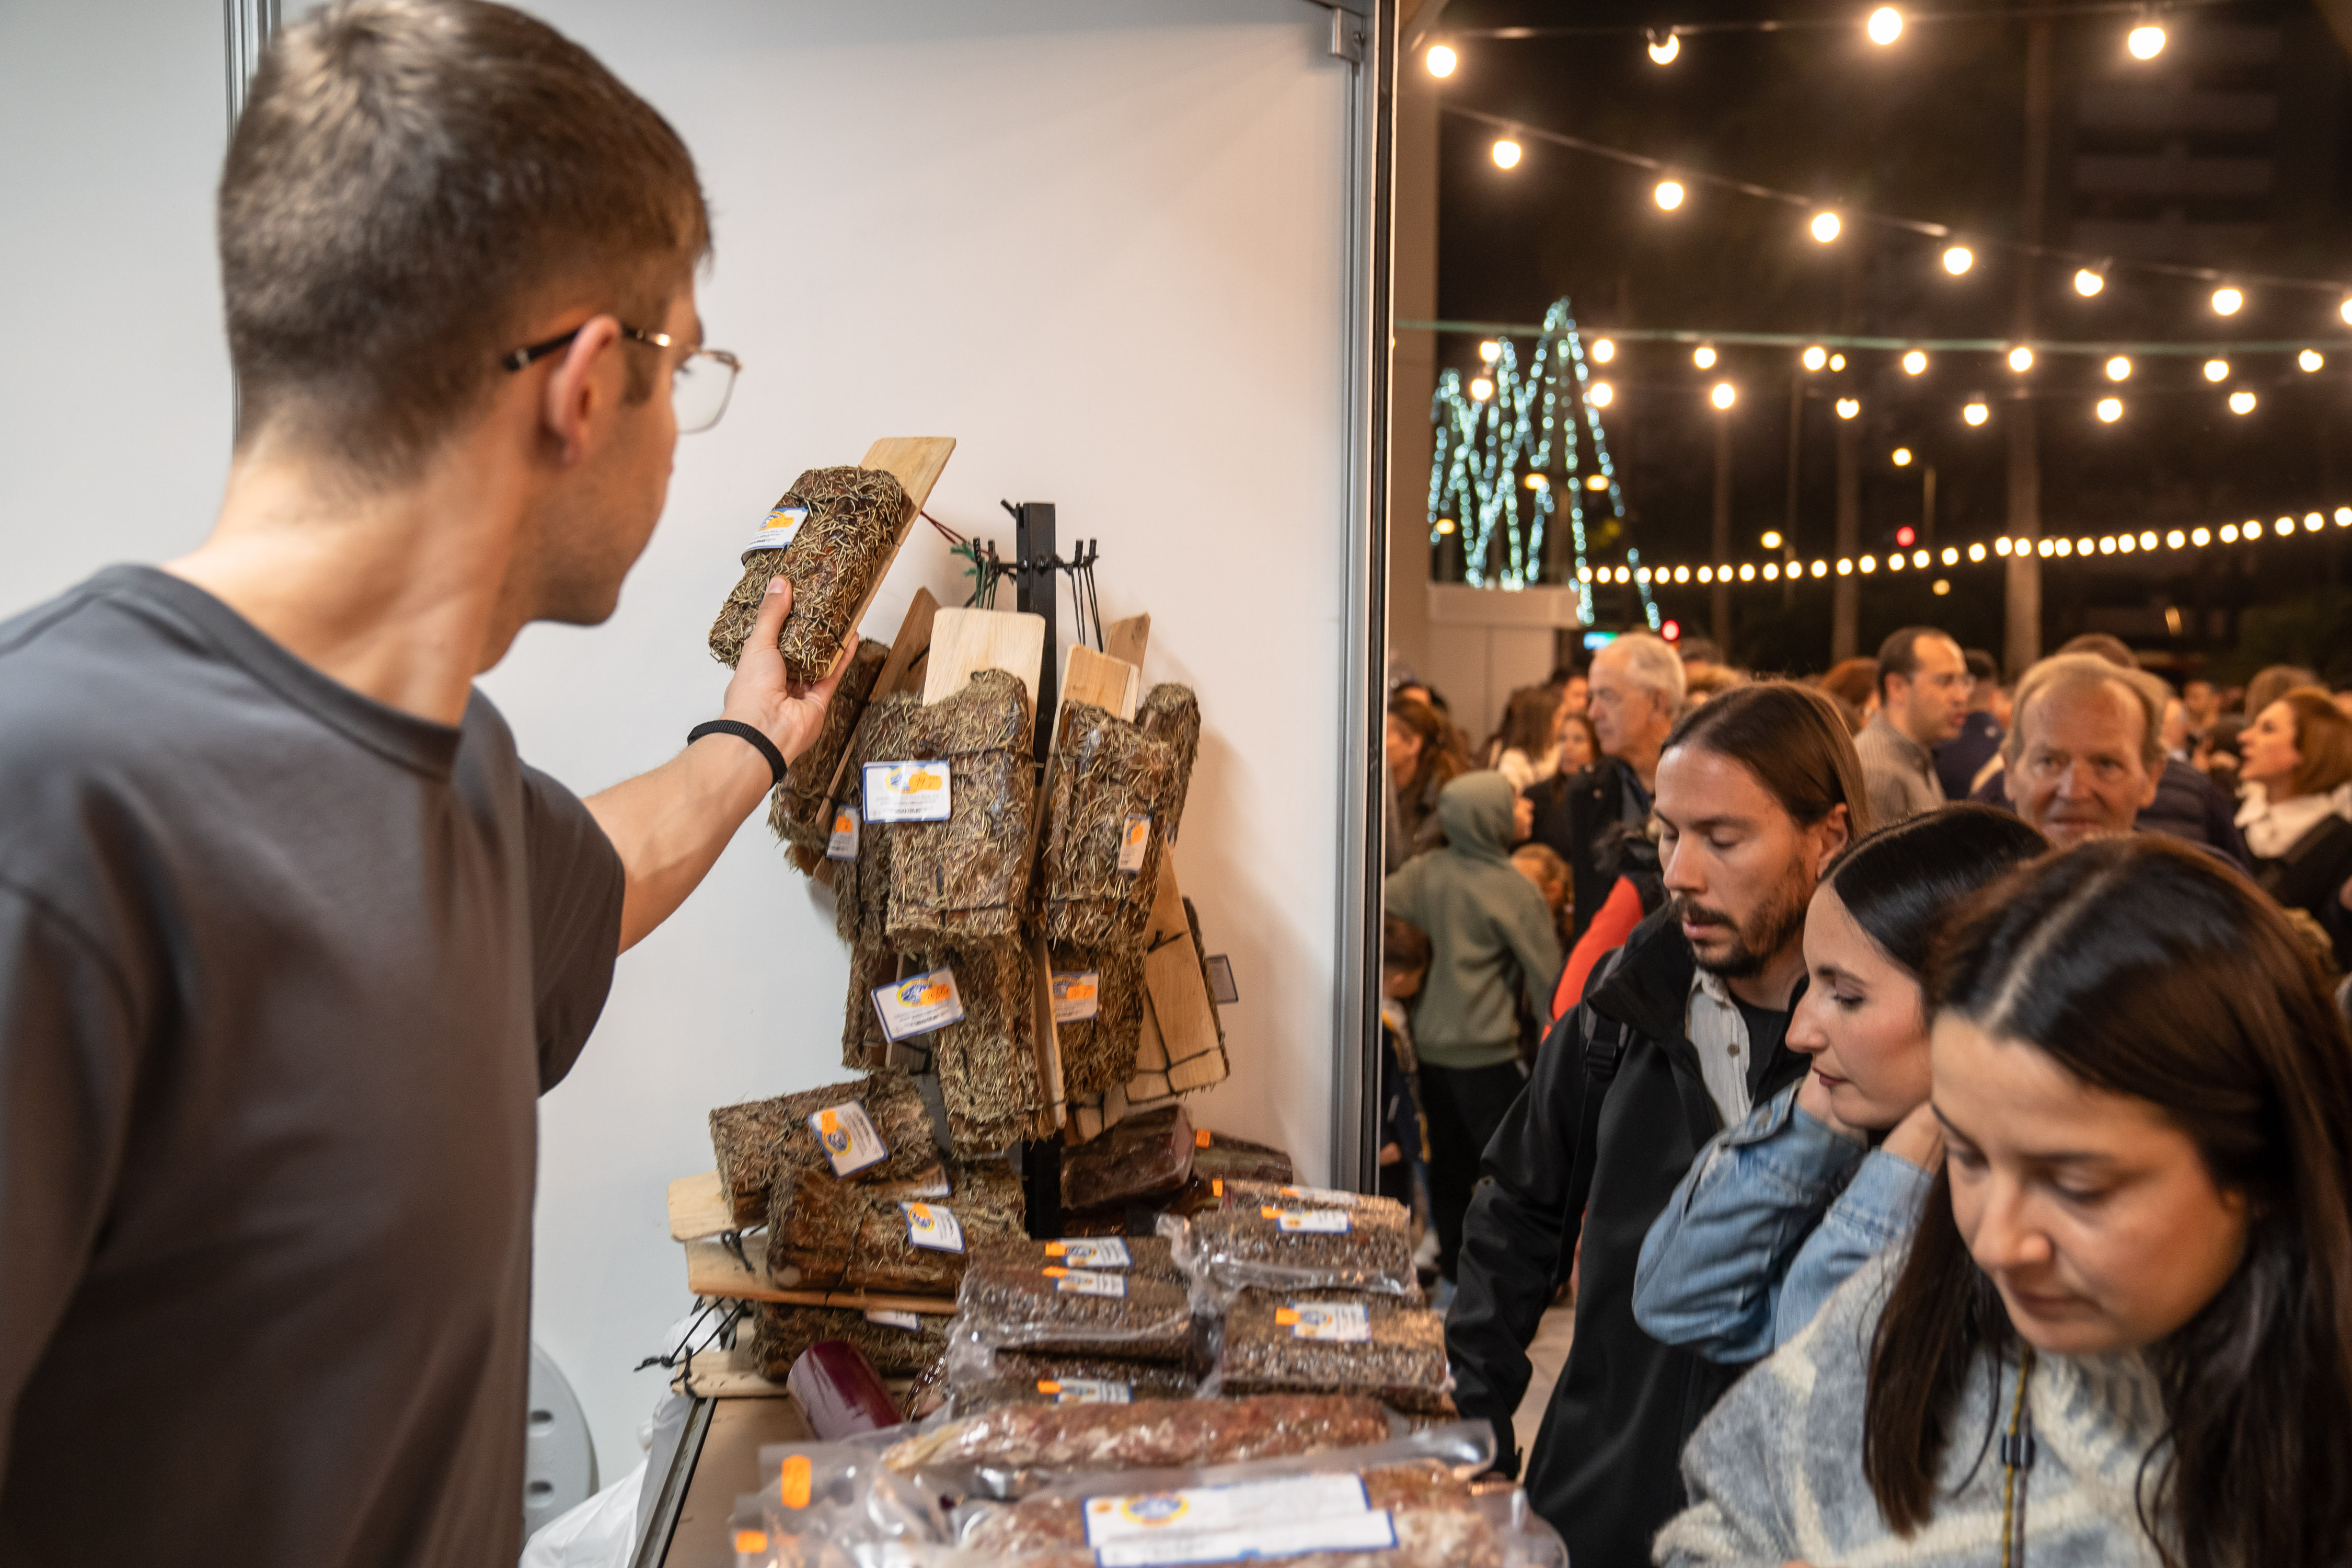
POLYGON ((776 1185, 767 1222, 769 1276, 788 1291, 908 1291, 953 1295, 969 1248, 1021 1234, 1021 1178, 1002 1161, 950 1164, 950 1192, 938 1199, 964 1232, 962 1253, 908 1241, 898 1197, 802 1171, 776 1185))

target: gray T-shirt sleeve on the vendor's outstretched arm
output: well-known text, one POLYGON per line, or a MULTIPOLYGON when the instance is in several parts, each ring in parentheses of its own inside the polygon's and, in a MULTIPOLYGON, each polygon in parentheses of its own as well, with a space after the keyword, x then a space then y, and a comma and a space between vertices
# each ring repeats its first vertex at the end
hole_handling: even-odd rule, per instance
POLYGON ((546 1093, 572 1072, 612 992, 628 872, 588 806, 534 766, 522 769, 522 823, 532 867, 539 1093, 546 1093))

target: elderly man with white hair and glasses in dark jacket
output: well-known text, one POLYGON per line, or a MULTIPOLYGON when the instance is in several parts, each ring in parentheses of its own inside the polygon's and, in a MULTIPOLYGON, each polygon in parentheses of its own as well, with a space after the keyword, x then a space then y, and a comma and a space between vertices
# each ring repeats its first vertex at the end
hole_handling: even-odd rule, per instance
POLYGON ((1597 863, 1599 837, 1613 823, 1646 823, 1658 788, 1658 752, 1682 712, 1684 675, 1672 644, 1625 632, 1592 656, 1585 717, 1602 755, 1573 778, 1538 785, 1534 837, 1559 851, 1576 882, 1576 936, 1609 898, 1613 877, 1597 863))

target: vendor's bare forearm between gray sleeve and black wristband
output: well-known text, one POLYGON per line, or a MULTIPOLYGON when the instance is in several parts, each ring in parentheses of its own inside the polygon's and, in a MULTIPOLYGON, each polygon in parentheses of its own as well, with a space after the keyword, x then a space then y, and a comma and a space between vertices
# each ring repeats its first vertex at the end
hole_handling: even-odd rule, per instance
POLYGON ((771 783, 767 759, 736 736, 703 736, 652 773, 588 797, 588 813, 628 870, 621 952, 687 900, 771 783))

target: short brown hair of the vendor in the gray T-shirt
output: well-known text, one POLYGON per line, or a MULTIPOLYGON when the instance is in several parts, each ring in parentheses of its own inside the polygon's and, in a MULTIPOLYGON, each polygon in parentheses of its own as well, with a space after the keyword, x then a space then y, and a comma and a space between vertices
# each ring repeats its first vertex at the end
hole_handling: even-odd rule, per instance
POLYGON ((710 252, 677 132, 576 42, 482 0, 341 0, 285 26, 219 226, 238 449, 268 428, 374 480, 412 475, 480 407, 550 289, 659 331, 644 317, 710 252))

